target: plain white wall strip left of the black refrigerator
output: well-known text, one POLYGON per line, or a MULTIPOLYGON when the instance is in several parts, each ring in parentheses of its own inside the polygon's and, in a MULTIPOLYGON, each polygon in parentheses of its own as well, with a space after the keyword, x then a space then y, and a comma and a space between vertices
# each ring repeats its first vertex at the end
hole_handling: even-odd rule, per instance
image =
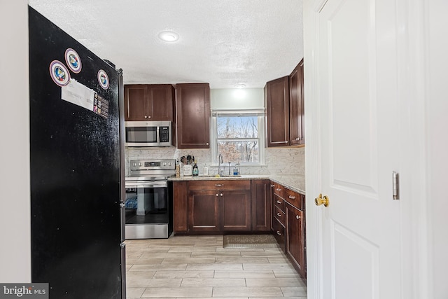
POLYGON ((0 1, 0 282, 31 282, 28 1, 0 1))

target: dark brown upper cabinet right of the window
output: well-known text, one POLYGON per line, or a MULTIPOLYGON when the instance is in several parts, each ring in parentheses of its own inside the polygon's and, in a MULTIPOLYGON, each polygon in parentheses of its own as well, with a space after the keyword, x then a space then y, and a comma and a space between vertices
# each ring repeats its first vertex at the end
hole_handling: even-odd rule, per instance
POLYGON ((265 86, 266 146, 304 145, 303 60, 290 76, 265 86))

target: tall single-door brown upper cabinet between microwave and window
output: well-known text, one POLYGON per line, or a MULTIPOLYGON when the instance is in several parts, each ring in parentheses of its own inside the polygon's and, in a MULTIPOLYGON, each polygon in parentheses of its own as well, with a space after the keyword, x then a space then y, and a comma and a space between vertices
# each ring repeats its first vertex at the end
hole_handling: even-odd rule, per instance
POLYGON ((209 84, 176 85, 176 107, 177 148, 209 148, 209 84))

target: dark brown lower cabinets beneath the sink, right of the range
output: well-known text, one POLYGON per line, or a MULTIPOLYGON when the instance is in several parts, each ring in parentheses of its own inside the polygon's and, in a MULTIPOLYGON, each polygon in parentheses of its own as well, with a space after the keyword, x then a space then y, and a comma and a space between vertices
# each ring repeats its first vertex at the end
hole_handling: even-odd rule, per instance
POLYGON ((268 179, 173 181, 174 234, 271 229, 268 179))

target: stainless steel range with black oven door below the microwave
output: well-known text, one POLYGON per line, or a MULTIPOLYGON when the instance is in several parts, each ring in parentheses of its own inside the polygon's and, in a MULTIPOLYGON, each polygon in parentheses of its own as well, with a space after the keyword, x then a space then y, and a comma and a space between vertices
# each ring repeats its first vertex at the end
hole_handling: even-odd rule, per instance
POLYGON ((173 231, 172 196, 168 176, 176 161, 131 160, 126 185, 126 239, 167 238, 173 231))

